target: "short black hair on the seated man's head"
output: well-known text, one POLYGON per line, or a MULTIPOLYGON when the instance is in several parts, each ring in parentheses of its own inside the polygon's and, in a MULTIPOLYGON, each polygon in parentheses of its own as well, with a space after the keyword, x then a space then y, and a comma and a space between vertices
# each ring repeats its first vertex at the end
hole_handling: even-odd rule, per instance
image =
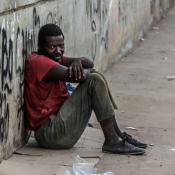
POLYGON ((58 35, 62 35, 64 38, 61 28, 56 24, 46 24, 42 26, 38 34, 38 47, 41 47, 45 44, 46 36, 58 36, 58 35))

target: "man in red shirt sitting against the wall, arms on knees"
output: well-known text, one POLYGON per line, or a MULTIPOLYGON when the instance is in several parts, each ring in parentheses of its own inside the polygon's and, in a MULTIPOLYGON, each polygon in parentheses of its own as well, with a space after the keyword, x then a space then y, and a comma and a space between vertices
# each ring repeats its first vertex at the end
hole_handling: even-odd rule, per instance
POLYGON ((85 57, 64 54, 64 35, 55 24, 44 25, 38 52, 26 61, 25 107, 28 124, 45 148, 71 148, 88 124, 92 110, 105 136, 102 150, 118 154, 144 154, 146 144, 122 133, 115 119, 116 105, 104 76, 85 57), (70 96, 65 82, 78 82, 70 96))

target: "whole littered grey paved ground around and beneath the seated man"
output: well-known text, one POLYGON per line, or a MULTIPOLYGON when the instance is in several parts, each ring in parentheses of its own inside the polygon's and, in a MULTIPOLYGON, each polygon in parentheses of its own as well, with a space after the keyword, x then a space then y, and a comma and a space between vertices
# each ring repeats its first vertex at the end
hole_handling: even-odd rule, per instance
POLYGON ((149 147, 144 156, 102 154, 103 135, 87 128, 71 150, 43 150, 33 138, 0 165, 0 175, 62 175, 74 156, 97 163, 101 172, 116 175, 175 174, 175 8, 157 24, 135 51, 106 73, 119 110, 116 117, 149 147), (172 78, 172 79, 168 79, 172 78))

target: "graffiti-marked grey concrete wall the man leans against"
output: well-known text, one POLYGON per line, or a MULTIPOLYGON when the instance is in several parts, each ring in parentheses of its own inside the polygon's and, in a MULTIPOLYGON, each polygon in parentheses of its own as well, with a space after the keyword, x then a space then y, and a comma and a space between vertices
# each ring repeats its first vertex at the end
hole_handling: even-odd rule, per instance
POLYGON ((66 54, 88 56, 99 70, 130 50, 172 0, 1 0, 0 160, 26 138, 23 120, 24 63, 37 48, 45 23, 65 34, 66 54))

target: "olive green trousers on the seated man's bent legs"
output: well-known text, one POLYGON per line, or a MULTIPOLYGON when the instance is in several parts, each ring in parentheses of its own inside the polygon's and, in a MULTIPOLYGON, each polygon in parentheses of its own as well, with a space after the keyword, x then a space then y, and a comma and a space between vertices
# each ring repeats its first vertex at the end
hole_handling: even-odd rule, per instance
POLYGON ((90 73, 65 101, 57 115, 50 116, 35 138, 41 147, 52 149, 71 148, 80 138, 94 110, 97 120, 115 116, 117 109, 104 76, 90 73))

